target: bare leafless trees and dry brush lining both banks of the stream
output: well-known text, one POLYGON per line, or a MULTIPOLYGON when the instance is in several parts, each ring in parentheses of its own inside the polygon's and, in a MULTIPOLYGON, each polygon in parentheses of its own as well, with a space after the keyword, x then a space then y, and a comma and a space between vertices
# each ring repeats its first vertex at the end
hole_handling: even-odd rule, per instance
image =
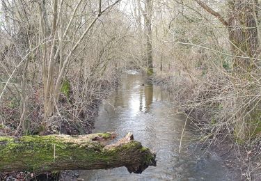
POLYGON ((89 131, 98 102, 131 66, 155 73, 201 141, 229 138, 255 149, 260 1, 2 0, 1 9, 6 132, 89 131))

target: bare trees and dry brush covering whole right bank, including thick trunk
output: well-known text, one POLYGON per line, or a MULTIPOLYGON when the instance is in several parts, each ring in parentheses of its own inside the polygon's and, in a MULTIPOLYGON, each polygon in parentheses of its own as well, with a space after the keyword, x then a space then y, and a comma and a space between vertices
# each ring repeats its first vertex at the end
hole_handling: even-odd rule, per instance
MULTIPOLYGON (((207 144, 203 144, 204 148, 228 155, 228 165, 237 165, 243 180, 257 180, 261 130, 260 3, 172 3, 161 6, 169 8, 168 13, 173 15, 173 19, 169 14, 164 19, 168 22, 167 33, 155 32, 154 45, 167 47, 154 52, 155 81, 175 95, 177 107, 187 112, 202 135, 200 141, 207 144)), ((157 23, 161 25, 162 21, 157 23)))

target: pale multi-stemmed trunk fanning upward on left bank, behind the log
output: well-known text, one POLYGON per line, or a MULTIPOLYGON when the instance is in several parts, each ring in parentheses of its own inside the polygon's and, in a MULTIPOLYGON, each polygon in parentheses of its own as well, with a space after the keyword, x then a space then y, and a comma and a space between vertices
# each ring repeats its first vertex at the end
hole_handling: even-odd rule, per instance
MULTIPOLYGON (((54 1, 54 19, 53 19, 53 26, 51 30, 52 33, 50 34, 49 31, 48 33, 46 32, 47 28, 46 28, 45 11, 44 11, 45 0, 42 0, 42 6, 40 10, 41 10, 41 17, 42 17, 41 27, 42 27, 42 32, 44 32, 42 33, 43 38, 47 38, 49 37, 49 35, 51 35, 50 36, 51 46, 47 47, 46 45, 44 45, 45 52, 42 53, 44 57, 43 59, 45 60, 44 71, 43 71, 44 72, 43 82, 44 82, 44 93, 45 93, 45 103, 44 103, 45 118, 44 121, 42 122, 42 127, 41 127, 43 129, 42 130, 43 132, 45 132, 45 129, 47 129, 48 118, 52 116, 52 114, 55 111, 54 107, 56 102, 58 102, 59 96, 61 94, 61 86, 66 72, 65 69, 68 68, 68 64, 70 62, 72 54, 77 50, 79 45, 81 45, 81 42, 83 42, 84 38, 92 29, 92 27, 95 25, 95 22, 97 22, 97 19, 99 19, 102 13, 106 12, 111 7, 115 6, 116 3, 120 2, 120 0, 114 1, 114 3, 111 3, 111 5, 107 6, 104 9, 102 9, 102 0, 99 1, 99 8, 98 8, 97 15, 95 15, 95 17, 93 17, 93 20, 90 22, 90 24, 86 26, 86 29, 84 30, 83 33, 81 33, 79 39, 75 41, 74 45, 68 52, 65 60, 63 61, 63 63, 61 63, 59 69, 57 69, 56 71, 55 63, 56 63, 56 59, 58 59, 58 55, 60 54, 63 45, 62 41, 65 38, 65 36, 68 35, 70 26, 72 26, 73 19, 75 18, 75 15, 77 14, 77 10, 79 10, 79 6, 81 5, 82 2, 83 0, 80 0, 77 3, 77 6, 75 6, 73 13, 70 17, 69 23, 67 24, 65 31, 63 32, 63 35, 59 38, 61 39, 61 41, 58 42, 58 40, 56 40, 56 36, 58 36, 58 28, 56 27, 56 22, 60 21, 61 15, 59 15, 59 13, 57 12, 58 11, 57 1, 54 1), (56 44, 58 44, 58 48, 56 48, 56 44), (54 72, 57 72, 57 74, 55 75, 54 72)), ((62 8, 61 7, 62 3, 63 1, 61 1, 60 3, 60 8, 62 8)), ((62 56, 62 54, 60 56, 62 56)))

